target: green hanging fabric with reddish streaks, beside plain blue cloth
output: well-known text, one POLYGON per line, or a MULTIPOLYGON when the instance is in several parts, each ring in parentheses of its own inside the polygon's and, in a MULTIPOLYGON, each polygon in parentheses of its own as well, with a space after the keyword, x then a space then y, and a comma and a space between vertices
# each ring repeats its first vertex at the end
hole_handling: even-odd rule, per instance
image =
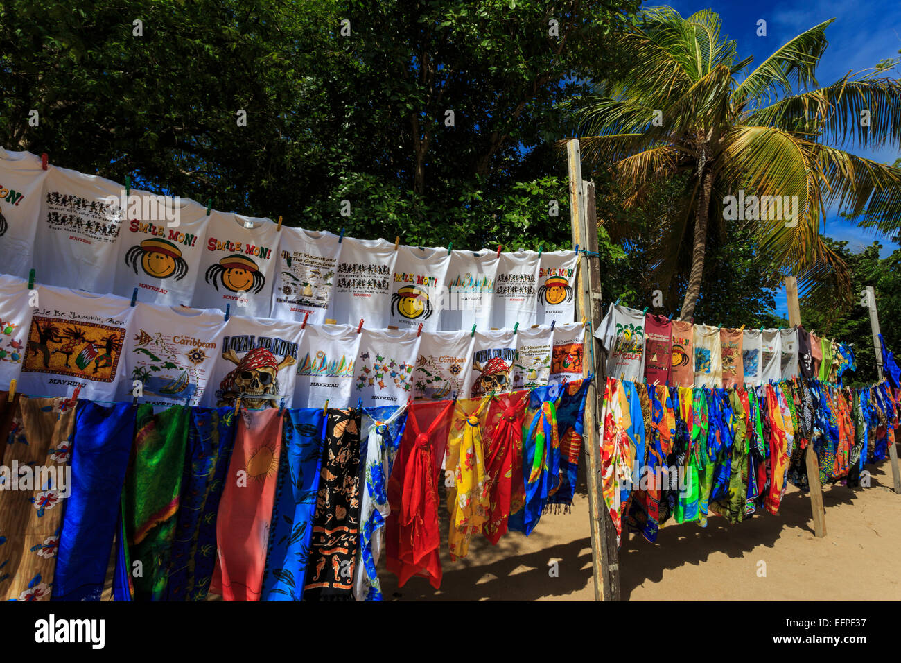
POLYGON ((122 490, 116 601, 166 600, 189 420, 189 411, 180 405, 159 414, 150 405, 138 406, 122 490), (133 573, 138 563, 140 575, 133 573))

